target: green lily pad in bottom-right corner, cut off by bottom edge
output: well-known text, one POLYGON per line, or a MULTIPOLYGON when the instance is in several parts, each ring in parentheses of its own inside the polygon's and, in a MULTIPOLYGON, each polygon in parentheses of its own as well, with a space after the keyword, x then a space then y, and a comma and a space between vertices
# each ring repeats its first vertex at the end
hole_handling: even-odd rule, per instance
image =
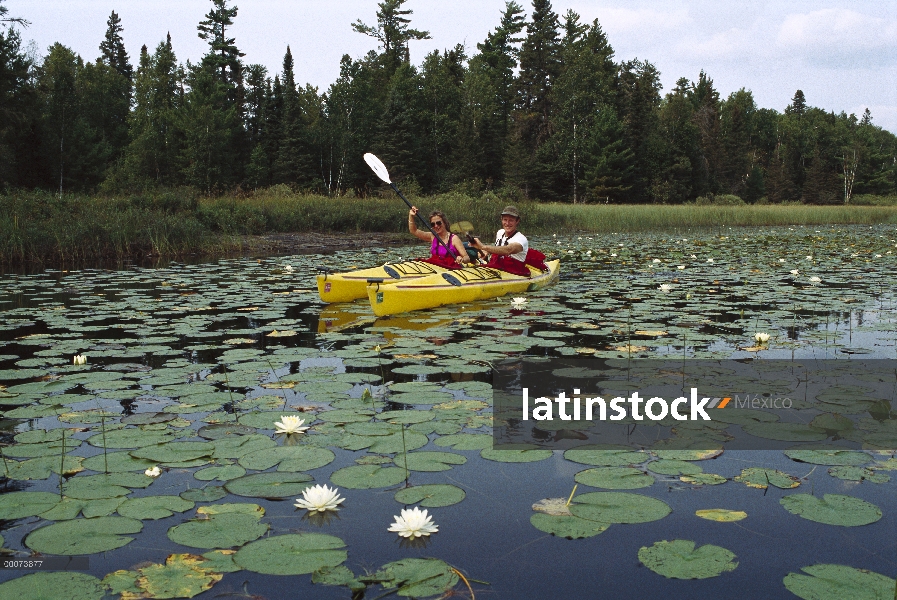
POLYGON ((891 600, 897 581, 847 565, 812 565, 806 575, 788 573, 782 580, 789 592, 804 600, 891 600))

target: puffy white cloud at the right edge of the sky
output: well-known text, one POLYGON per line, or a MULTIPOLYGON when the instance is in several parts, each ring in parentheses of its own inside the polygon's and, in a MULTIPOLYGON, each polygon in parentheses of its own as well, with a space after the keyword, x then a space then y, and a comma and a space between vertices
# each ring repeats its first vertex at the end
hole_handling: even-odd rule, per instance
POLYGON ((897 20, 844 8, 785 17, 776 46, 808 64, 871 68, 897 64, 897 20))

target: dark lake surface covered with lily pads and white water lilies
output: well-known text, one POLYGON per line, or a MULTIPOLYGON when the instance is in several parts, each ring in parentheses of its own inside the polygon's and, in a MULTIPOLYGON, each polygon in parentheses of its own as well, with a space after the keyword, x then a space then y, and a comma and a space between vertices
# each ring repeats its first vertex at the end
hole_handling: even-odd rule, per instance
POLYGON ((422 247, 3 275, 0 597, 895 598, 894 225, 531 244, 555 285, 384 318, 315 267, 422 247), (497 449, 524 357, 852 383, 709 450, 497 449))

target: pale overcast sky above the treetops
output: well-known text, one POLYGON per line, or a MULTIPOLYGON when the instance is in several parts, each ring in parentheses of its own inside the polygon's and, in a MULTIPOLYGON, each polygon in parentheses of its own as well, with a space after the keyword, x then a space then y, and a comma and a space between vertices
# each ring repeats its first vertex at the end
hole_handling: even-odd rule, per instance
MULTIPOLYGON (((296 81, 325 91, 339 74, 343 54, 360 58, 376 48, 351 23, 376 24, 376 0, 236 0, 232 33, 247 63, 281 70, 287 45, 296 60, 296 81)), ((504 0, 408 0, 411 26, 432 39, 412 42, 420 64, 433 50, 463 43, 468 55, 499 22, 504 0)), ((528 2, 519 2, 527 14, 528 2)), ((825 110, 872 112, 873 123, 897 133, 897 1, 775 0, 721 2, 556 0, 563 15, 573 9, 584 22, 598 19, 617 61, 639 58, 661 73, 664 93, 680 77, 696 80, 703 69, 720 95, 744 87, 758 106, 782 111, 797 89, 825 110)), ((136 66, 140 47, 152 50, 171 32, 181 62, 196 62, 206 44, 196 25, 210 0, 6 0, 10 16, 24 17, 24 31, 43 54, 54 42, 85 60, 99 55, 106 20, 115 10, 136 66)))

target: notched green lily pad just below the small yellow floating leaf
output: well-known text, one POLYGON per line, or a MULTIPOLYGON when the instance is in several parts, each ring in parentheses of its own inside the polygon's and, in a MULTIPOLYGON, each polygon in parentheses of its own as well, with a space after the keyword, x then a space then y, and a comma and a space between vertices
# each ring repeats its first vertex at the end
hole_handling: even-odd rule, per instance
POLYGON ((707 579, 738 566, 735 555, 725 548, 711 544, 695 548, 691 540, 654 542, 642 547, 638 558, 658 575, 672 579, 707 579))

